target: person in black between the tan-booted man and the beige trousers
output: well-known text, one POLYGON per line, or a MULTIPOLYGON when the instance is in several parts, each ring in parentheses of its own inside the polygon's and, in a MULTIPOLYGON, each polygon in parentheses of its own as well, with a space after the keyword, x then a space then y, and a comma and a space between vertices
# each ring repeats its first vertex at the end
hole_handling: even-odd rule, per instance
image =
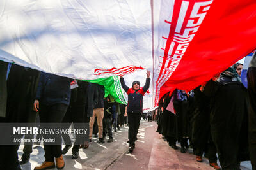
MULTIPOLYGON (((68 129, 71 122, 73 122, 75 129, 83 129, 83 126, 81 125, 84 123, 84 117, 92 117, 95 85, 79 80, 77 80, 77 85, 78 87, 71 90, 70 105, 62 120, 62 123, 64 123, 62 124, 63 129, 68 129)), ((71 148, 72 143, 68 134, 61 134, 61 136, 65 142, 65 148, 62 150, 62 154, 65 155, 71 148)), ((83 135, 76 134, 76 141, 72 148, 72 159, 77 159, 79 157, 78 150, 82 142, 83 135)))

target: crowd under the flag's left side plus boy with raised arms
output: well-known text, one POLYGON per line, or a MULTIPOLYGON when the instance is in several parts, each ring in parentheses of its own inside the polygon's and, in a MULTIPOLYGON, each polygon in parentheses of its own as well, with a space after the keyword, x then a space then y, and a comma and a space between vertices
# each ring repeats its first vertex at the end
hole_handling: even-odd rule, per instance
MULTIPOLYGON (((0 61, 0 122, 1 123, 39 123, 40 129, 51 125, 55 129, 89 129, 89 134, 76 135, 72 140, 68 134, 38 134, 36 139, 54 138, 61 143, 44 141, 45 161, 35 169, 57 167, 63 169, 63 155, 72 147, 72 159, 79 157, 79 148, 88 148, 92 136, 99 137, 99 143, 113 142, 112 129, 120 130, 129 126, 129 152, 135 148, 136 136, 140 126, 143 95, 150 84, 150 72, 147 71, 147 83, 140 87, 134 81, 132 87, 122 87, 128 94, 128 106, 115 101, 110 94, 105 96, 104 86, 87 81, 73 80, 55 74, 44 73, 28 67, 0 61), (135 99, 134 99, 135 98, 135 99), (129 116, 129 117, 128 117, 129 116), (129 124, 128 124, 129 123, 129 124), (63 139, 63 141, 62 141, 63 139)), ((33 134, 24 138, 33 139, 33 134)), ((19 138, 23 138, 20 135, 19 138)), ((39 142, 40 143, 40 142, 39 142)), ((21 164, 29 162, 33 143, 24 143, 23 155, 18 160, 17 145, 0 145, 0 169, 20 169, 21 164)))

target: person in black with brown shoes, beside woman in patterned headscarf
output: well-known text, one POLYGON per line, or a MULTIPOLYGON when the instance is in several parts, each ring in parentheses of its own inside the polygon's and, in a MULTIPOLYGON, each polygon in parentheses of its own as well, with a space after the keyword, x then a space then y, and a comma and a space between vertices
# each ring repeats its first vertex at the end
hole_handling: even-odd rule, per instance
POLYGON ((217 164, 216 146, 214 145, 210 132, 210 98, 205 96, 204 85, 194 90, 194 106, 192 118, 192 141, 193 152, 196 161, 202 162, 202 155, 209 159, 210 166, 220 169, 217 164))

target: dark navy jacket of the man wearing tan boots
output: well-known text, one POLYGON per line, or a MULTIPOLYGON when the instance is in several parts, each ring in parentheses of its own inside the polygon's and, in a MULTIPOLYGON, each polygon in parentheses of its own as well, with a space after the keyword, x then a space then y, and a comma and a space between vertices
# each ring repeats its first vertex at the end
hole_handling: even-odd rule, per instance
POLYGON ((56 103, 70 103, 70 83, 71 78, 57 76, 49 73, 41 73, 36 89, 36 99, 40 104, 53 105, 56 103))

